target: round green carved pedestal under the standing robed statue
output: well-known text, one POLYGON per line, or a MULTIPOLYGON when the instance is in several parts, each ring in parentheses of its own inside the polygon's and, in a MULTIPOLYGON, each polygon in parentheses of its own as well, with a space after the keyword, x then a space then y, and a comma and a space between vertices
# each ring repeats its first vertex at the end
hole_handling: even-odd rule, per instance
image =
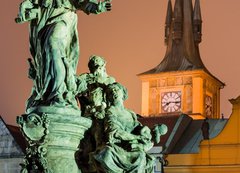
POLYGON ((80 111, 36 107, 28 109, 17 122, 28 142, 22 172, 81 172, 75 153, 92 122, 81 117, 80 111))

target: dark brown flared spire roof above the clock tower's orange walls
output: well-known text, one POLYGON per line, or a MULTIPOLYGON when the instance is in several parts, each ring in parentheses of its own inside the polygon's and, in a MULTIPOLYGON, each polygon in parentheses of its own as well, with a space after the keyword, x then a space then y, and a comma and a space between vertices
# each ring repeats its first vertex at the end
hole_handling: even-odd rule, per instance
POLYGON ((210 74, 201 60, 198 47, 202 22, 200 1, 195 0, 193 9, 192 0, 175 0, 172 13, 171 5, 171 1, 168 1, 165 57, 158 66, 142 74, 196 69, 202 69, 210 74))

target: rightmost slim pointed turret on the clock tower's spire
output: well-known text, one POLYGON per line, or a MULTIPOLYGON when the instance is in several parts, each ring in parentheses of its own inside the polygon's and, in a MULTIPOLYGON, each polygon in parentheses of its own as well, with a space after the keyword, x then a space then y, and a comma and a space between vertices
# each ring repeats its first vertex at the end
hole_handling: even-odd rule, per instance
POLYGON ((193 15, 193 33, 194 41, 200 43, 202 41, 202 16, 200 8, 200 0, 195 0, 193 15))

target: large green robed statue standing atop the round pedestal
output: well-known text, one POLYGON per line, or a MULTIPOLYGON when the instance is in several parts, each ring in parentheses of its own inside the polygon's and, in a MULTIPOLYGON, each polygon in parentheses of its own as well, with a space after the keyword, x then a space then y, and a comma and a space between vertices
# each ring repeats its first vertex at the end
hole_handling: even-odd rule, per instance
POLYGON ((79 56, 76 11, 99 14, 110 9, 108 1, 97 0, 22 2, 16 22, 30 21, 33 58, 30 77, 34 86, 27 109, 38 105, 76 107, 75 74, 79 56))

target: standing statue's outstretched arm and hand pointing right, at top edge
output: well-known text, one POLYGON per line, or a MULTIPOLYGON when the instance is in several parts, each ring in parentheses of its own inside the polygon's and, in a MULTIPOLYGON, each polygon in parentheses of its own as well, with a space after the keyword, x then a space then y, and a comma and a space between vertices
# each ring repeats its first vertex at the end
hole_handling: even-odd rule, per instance
POLYGON ((77 2, 78 9, 82 10, 86 14, 99 14, 111 10, 111 3, 108 0, 80 0, 77 2))

